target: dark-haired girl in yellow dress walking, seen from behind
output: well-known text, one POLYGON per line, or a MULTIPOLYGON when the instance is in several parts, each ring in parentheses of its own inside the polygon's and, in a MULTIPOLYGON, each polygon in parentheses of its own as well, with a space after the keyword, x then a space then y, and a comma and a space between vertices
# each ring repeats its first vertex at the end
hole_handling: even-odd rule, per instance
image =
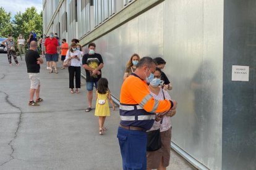
POLYGON ((111 103, 113 110, 115 110, 114 102, 111 99, 111 94, 108 89, 108 80, 100 78, 98 81, 98 89, 96 91, 96 108, 95 116, 99 116, 99 133, 103 134, 106 128, 103 126, 106 116, 110 116, 108 100, 111 103))

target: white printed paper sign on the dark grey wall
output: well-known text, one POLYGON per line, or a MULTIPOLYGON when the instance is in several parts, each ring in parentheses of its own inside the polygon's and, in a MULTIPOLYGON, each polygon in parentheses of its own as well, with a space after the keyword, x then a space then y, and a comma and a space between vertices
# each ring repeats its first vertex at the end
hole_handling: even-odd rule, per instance
POLYGON ((233 65, 232 81, 249 81, 249 66, 233 65))

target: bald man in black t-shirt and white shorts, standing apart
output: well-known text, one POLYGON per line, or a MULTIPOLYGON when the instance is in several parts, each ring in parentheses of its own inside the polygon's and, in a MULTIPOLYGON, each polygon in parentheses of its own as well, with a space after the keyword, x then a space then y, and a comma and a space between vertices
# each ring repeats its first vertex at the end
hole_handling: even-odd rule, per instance
POLYGON ((42 102, 43 99, 40 98, 40 63, 43 63, 43 59, 40 57, 36 51, 37 43, 36 41, 30 42, 30 49, 26 52, 25 61, 27 64, 28 77, 30 78, 30 100, 28 105, 39 106, 38 102, 42 102), (34 95, 36 94, 36 100, 34 102, 34 95))

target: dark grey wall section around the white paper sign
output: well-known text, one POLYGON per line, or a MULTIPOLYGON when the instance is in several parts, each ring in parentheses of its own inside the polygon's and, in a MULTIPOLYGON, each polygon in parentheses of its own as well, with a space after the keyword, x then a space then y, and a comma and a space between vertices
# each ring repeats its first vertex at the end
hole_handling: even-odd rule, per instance
POLYGON ((256 169, 256 1, 224 1, 223 169, 256 169), (231 81, 232 65, 249 81, 231 81))

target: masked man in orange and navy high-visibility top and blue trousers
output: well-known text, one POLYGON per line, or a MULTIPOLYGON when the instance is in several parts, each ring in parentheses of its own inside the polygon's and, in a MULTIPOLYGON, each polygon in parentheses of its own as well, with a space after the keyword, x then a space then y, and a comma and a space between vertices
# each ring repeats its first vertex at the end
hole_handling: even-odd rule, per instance
POLYGON ((123 169, 147 169, 147 134, 157 113, 176 109, 175 100, 155 100, 147 83, 154 78, 156 64, 143 57, 132 75, 125 79, 120 94, 121 122, 117 138, 123 169))

